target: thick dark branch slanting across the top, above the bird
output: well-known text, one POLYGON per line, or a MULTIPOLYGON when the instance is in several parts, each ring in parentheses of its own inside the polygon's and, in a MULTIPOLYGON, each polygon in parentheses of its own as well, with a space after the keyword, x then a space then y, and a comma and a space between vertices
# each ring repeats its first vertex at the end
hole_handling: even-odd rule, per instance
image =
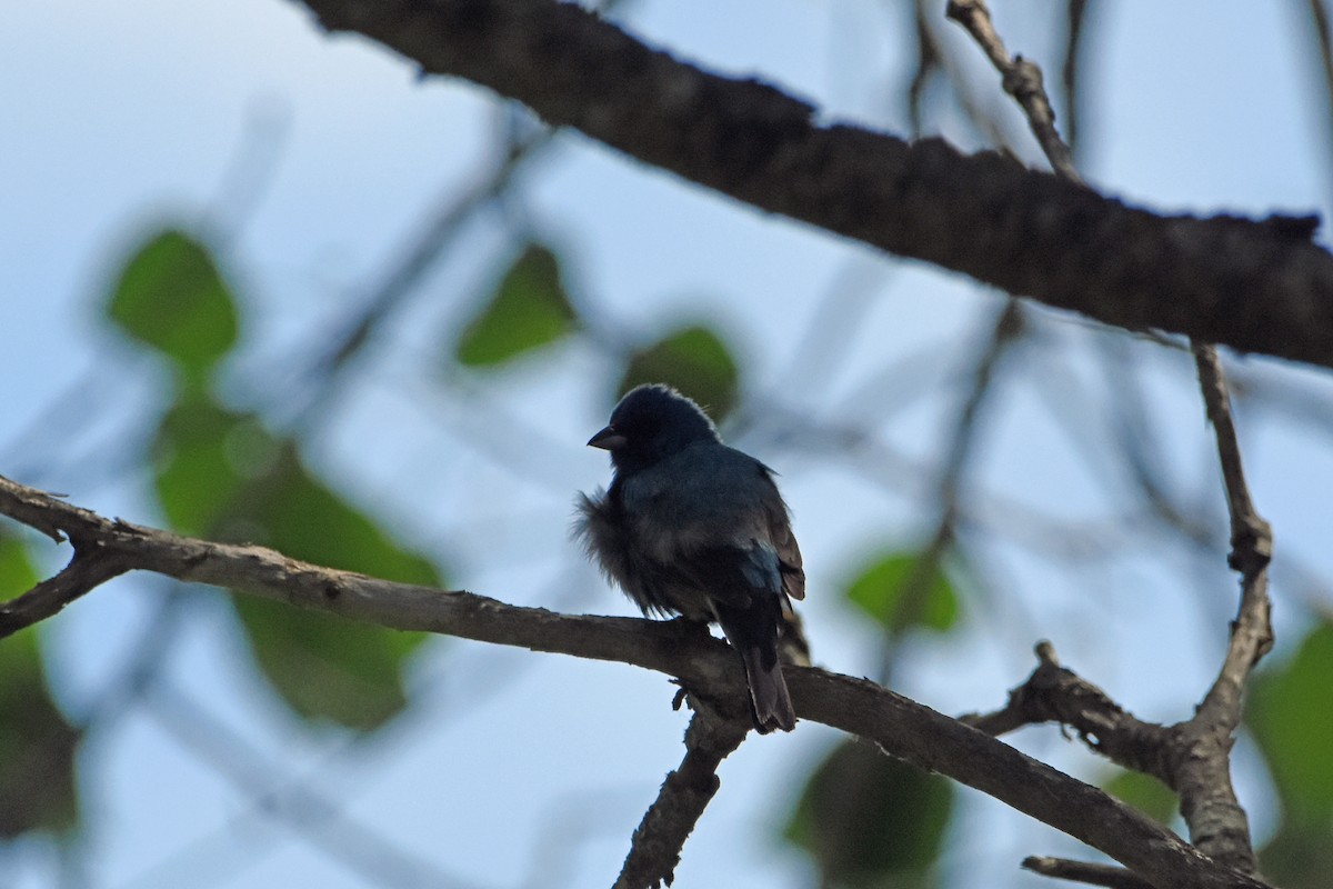
POLYGON ((301 0, 333 31, 517 99, 758 209, 1130 329, 1333 367, 1333 256, 1312 220, 1157 216, 994 153, 813 121, 754 80, 556 0, 301 0))

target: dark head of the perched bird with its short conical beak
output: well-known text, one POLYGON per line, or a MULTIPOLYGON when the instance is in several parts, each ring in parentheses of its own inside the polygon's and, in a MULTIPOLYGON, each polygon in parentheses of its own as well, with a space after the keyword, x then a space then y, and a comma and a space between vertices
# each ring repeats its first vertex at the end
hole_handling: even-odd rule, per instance
POLYGON ((609 450, 617 470, 633 472, 698 441, 718 441, 713 421, 681 393, 652 383, 627 392, 588 444, 609 450))

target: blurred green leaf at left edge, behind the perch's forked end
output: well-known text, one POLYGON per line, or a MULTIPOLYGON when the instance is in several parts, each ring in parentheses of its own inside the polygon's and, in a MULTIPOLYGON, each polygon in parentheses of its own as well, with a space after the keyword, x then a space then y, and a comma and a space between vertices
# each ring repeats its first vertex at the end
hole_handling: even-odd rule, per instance
MULTIPOLYGON (((27 592, 37 574, 23 545, 0 534, 0 598, 27 592)), ((79 824, 79 730, 51 698, 41 637, 29 626, 0 644, 0 838, 32 830, 68 834, 79 824)))

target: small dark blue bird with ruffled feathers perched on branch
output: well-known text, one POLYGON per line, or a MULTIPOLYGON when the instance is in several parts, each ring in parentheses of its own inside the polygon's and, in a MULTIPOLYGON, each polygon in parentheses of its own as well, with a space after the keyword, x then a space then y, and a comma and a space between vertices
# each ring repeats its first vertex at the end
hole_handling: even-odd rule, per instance
POLYGON ((745 665, 756 729, 790 732, 778 648, 805 570, 773 470, 660 383, 629 391, 588 445, 613 468, 605 490, 579 496, 588 556, 645 617, 718 624, 745 665))

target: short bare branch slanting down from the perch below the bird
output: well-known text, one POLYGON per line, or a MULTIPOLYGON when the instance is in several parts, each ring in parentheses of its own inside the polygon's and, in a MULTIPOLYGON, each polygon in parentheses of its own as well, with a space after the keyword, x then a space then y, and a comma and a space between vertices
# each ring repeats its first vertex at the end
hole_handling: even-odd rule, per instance
POLYGON ((685 758, 666 774, 661 792, 635 830, 625 866, 612 889, 668 886, 680 864, 680 850, 694 830, 721 782, 717 766, 741 745, 752 726, 748 710, 722 716, 692 698, 694 717, 685 730, 685 758))

